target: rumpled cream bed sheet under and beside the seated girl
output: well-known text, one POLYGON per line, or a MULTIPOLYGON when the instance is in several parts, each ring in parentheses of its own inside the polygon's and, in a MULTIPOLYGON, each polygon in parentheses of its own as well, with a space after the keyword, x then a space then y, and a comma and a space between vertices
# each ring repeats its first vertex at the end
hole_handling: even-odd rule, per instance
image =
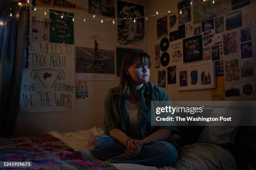
MULTIPOLYGON (((93 127, 73 133, 58 133, 51 131, 49 134, 59 138, 75 151, 87 152, 88 141, 94 135, 103 134, 101 128, 93 127)), ((237 170, 236 161, 224 148, 209 143, 194 143, 179 150, 179 158, 174 165, 161 168, 148 167, 138 164, 113 163, 119 170, 237 170)))

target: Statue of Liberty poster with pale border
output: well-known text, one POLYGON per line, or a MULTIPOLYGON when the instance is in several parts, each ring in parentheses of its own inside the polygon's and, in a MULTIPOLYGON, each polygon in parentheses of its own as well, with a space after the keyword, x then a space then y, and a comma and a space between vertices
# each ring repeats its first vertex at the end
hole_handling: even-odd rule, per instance
POLYGON ((106 20, 74 22, 74 32, 84 32, 75 37, 76 79, 116 80, 115 25, 106 20))

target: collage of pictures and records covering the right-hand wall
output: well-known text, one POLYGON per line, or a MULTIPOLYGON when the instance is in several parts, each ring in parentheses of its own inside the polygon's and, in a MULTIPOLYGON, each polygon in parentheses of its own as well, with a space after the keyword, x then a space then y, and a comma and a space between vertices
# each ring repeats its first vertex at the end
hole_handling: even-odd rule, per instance
POLYGON ((212 100, 232 96, 225 92, 233 84, 241 90, 243 77, 253 76, 251 14, 244 9, 251 2, 241 1, 220 0, 212 4, 194 0, 192 4, 181 0, 177 12, 159 15, 155 68, 159 72, 167 68, 167 84, 177 83, 178 90, 211 88, 212 100), (211 64, 212 70, 198 70, 205 64, 211 64), (195 88, 198 82, 200 86, 195 88))

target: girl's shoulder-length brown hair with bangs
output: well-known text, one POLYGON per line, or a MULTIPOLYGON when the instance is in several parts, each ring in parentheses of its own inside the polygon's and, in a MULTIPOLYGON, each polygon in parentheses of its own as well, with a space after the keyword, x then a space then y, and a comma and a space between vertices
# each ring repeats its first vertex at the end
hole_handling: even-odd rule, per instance
MULTIPOLYGON (((149 65, 151 66, 151 57, 143 51, 139 50, 133 50, 131 52, 128 52, 125 54, 122 60, 122 65, 120 69, 120 92, 121 95, 124 95, 125 97, 128 97, 131 95, 131 89, 129 87, 129 75, 125 73, 125 67, 129 68, 131 67, 138 59, 141 60, 141 63, 143 65, 149 65)), ((148 83, 144 84, 146 86, 146 89, 148 91, 148 83)))

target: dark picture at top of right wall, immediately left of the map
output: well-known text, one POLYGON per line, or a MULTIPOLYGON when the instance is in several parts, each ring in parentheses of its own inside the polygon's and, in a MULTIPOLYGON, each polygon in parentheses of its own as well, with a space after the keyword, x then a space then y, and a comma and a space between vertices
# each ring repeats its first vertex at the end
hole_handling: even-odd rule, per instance
POLYGON ((178 19, 179 24, 184 24, 191 21, 190 0, 182 0, 178 3, 178 19), (180 13, 180 10, 182 13, 180 13))

